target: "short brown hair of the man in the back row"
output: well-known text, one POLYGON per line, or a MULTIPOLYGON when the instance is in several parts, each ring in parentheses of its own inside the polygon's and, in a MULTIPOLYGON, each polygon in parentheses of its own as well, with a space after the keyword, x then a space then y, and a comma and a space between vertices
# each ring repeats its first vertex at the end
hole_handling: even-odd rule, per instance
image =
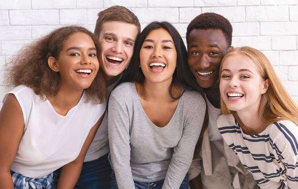
POLYGON ((129 24, 134 24, 138 28, 138 33, 141 33, 141 25, 138 17, 124 6, 111 6, 98 12, 94 34, 99 36, 101 26, 106 21, 120 21, 129 24))

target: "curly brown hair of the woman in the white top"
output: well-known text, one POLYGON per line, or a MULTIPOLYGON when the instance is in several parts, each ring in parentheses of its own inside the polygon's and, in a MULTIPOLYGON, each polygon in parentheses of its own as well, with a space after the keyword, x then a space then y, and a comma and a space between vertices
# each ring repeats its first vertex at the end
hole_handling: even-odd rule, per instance
MULTIPOLYGON (((10 87, 26 85, 44 98, 55 96, 59 90, 60 74, 48 65, 48 58, 58 59, 64 42, 76 32, 83 32, 91 37, 96 53, 99 46, 96 37, 87 29, 79 26, 66 26, 52 31, 50 34, 29 44, 9 61, 5 70, 4 83, 10 87)), ((102 103, 106 95, 106 84, 101 69, 98 70, 91 85, 84 90, 86 101, 102 103)))

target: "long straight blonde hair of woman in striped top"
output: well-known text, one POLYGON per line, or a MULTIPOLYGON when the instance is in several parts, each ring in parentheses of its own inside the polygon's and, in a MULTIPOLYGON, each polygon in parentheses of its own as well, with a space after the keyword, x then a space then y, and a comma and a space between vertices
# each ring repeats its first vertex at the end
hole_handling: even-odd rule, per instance
MULTIPOLYGON (((262 94, 259 107, 260 120, 266 124, 272 124, 280 120, 290 120, 298 125, 298 107, 291 96, 285 90, 282 82, 279 80, 271 63, 260 51, 251 47, 239 47, 231 49, 223 58, 220 75, 224 60, 235 54, 243 55, 255 63, 260 76, 269 80, 269 87, 266 93, 262 94)), ((223 99, 221 98, 222 114, 231 114, 223 99)))

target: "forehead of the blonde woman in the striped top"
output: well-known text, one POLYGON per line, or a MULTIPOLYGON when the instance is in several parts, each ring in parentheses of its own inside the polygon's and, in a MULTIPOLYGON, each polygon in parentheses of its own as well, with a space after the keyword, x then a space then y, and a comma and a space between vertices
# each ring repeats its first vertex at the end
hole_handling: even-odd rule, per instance
POLYGON ((250 58, 240 54, 228 56, 222 66, 222 69, 229 69, 232 72, 238 72, 240 69, 249 69, 252 72, 258 72, 255 63, 250 58))

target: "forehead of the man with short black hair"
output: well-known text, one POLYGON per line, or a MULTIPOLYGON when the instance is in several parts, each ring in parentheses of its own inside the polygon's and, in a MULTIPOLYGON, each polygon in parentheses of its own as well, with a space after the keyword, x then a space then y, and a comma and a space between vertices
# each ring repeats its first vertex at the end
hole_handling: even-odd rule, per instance
POLYGON ((188 36, 188 46, 207 47, 217 44, 220 48, 227 48, 227 41, 220 29, 193 29, 188 36))

